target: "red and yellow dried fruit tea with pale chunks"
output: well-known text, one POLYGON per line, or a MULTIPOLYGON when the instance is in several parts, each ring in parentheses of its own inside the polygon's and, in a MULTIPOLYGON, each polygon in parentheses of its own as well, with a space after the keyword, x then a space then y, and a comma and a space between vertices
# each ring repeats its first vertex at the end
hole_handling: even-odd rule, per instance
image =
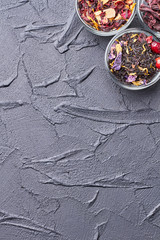
POLYGON ((81 18, 99 31, 117 30, 131 17, 133 0, 78 0, 81 18))

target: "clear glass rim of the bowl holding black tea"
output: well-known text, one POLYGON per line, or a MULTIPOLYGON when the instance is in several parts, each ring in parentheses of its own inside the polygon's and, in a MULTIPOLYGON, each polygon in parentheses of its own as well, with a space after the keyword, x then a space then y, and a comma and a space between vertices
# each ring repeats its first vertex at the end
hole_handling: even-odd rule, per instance
POLYGON ((105 66, 106 66, 108 72, 110 73, 110 76, 112 77, 112 80, 116 84, 118 84, 120 87, 123 87, 123 88, 128 89, 128 90, 142 90, 142 89, 148 88, 148 87, 152 86, 153 84, 155 84, 156 82, 158 82, 158 80, 160 79, 160 72, 156 73, 153 76, 152 80, 147 85, 134 86, 134 85, 127 85, 127 84, 124 84, 124 83, 120 82, 120 80, 118 80, 116 78, 116 76, 110 71, 110 68, 109 68, 109 65, 108 65, 108 62, 109 62, 108 56, 109 56, 109 53, 110 53, 111 46, 115 42, 116 39, 118 39, 119 37, 121 37, 125 33, 145 33, 147 36, 153 36, 153 39, 155 41, 157 41, 157 38, 154 35, 152 35, 150 32, 144 31, 143 29, 130 28, 130 29, 121 31, 119 34, 117 34, 116 36, 114 36, 111 39, 111 41, 109 42, 109 44, 106 48, 106 51, 105 51, 105 66))

